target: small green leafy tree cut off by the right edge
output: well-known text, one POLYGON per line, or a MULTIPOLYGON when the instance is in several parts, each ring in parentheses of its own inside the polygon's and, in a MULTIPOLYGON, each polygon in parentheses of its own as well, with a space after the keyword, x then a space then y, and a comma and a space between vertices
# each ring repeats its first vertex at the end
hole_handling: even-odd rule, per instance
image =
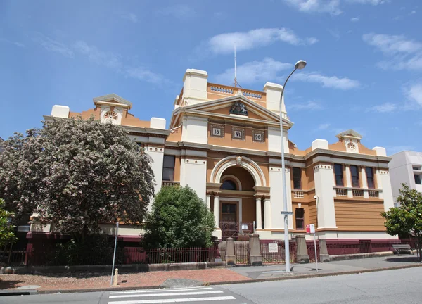
POLYGON ((387 233, 395 236, 398 234, 413 234, 418 242, 419 260, 422 258, 422 194, 410 189, 407 184, 402 184, 400 195, 397 197, 398 207, 390 208, 381 213, 385 218, 387 233))

